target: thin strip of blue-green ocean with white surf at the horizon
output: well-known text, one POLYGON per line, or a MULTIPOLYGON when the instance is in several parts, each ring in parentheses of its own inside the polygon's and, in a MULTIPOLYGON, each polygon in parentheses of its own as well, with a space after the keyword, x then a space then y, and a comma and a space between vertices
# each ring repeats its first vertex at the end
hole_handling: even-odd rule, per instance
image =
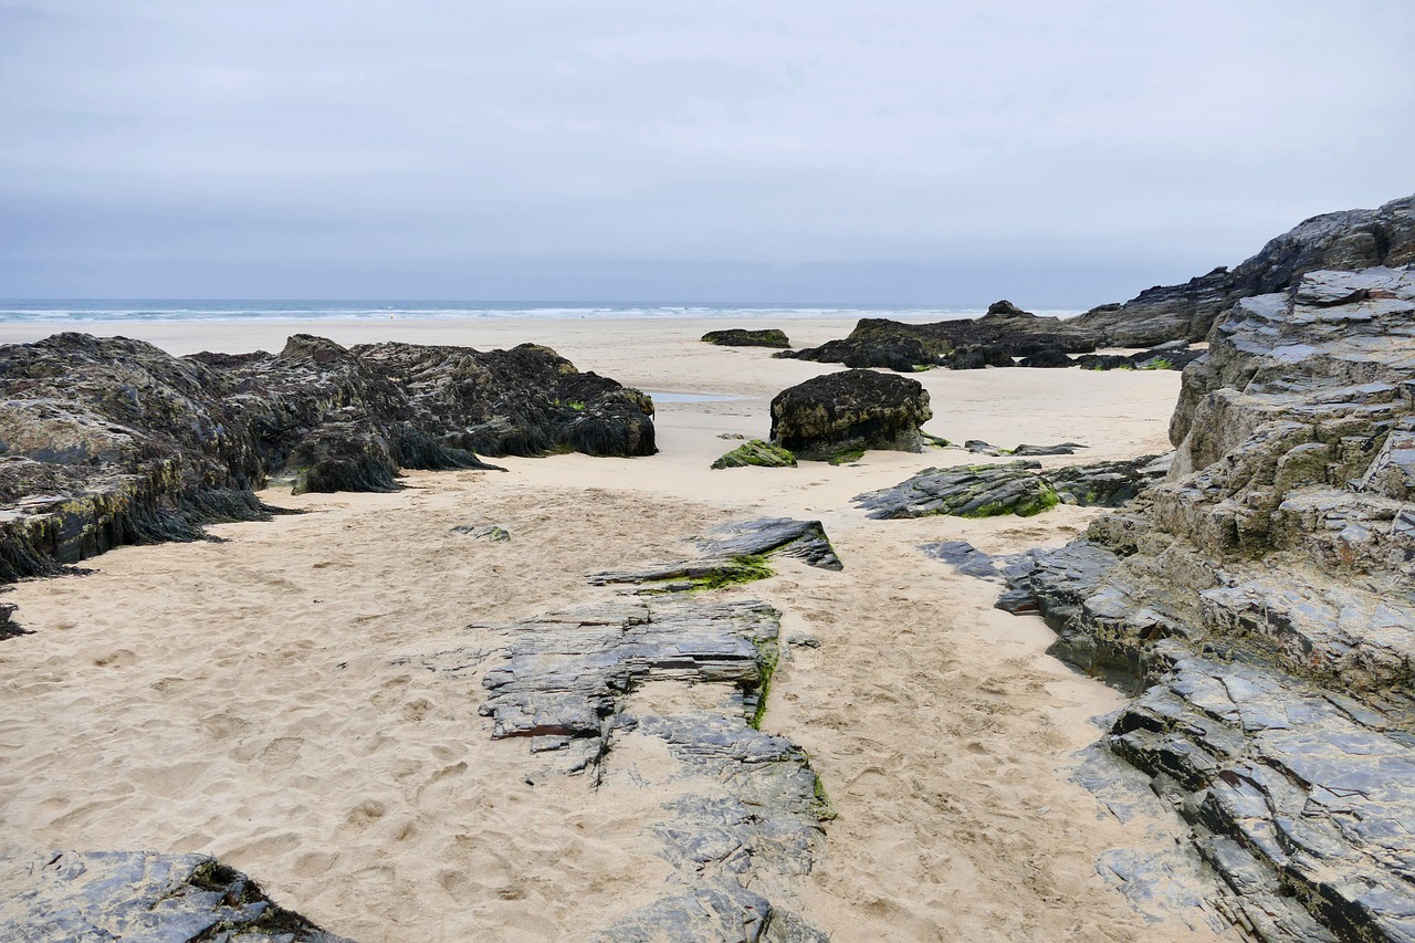
MULTIPOLYGON (((954 320, 983 309, 914 304, 693 304, 657 302, 368 302, 368 300, 208 300, 208 299, 10 299, 0 300, 0 324, 91 321, 245 321, 379 319, 562 319, 562 317, 891 317, 954 320)), ((1070 317, 1074 310, 1039 310, 1070 317)))

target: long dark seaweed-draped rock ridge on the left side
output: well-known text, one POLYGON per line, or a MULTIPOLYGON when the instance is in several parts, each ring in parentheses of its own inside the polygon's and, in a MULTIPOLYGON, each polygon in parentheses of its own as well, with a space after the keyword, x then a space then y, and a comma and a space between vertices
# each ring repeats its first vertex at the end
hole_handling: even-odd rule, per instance
POLYGON ((651 455, 652 401, 522 344, 371 344, 297 334, 279 354, 173 357, 55 334, 0 347, 0 582, 122 544, 260 520, 252 494, 396 487, 399 469, 483 455, 651 455))

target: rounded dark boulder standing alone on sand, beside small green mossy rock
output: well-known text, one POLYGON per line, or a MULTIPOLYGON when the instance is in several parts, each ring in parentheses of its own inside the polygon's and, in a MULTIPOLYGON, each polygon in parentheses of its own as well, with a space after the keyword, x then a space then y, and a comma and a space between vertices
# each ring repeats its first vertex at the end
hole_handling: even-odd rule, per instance
POLYGON ((798 459, 829 460, 865 449, 923 452, 932 418, 917 379, 846 370, 782 389, 771 401, 771 442, 798 459))

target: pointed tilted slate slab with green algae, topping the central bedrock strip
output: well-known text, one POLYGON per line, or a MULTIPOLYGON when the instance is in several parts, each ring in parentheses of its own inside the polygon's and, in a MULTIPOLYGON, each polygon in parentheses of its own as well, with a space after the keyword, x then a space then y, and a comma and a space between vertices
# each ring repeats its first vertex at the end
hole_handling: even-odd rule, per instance
POLYGON ((771 576, 767 561, 773 556, 790 556, 819 569, 845 569, 821 521, 790 517, 733 521, 693 542, 702 556, 590 573, 589 581, 596 586, 630 583, 644 586, 645 593, 664 593, 766 579, 771 576))

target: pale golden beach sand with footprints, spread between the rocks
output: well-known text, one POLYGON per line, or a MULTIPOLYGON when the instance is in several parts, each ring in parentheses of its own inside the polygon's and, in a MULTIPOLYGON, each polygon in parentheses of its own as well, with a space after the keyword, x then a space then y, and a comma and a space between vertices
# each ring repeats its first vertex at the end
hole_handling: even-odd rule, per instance
MULTIPOLYGON (((801 743, 839 810, 795 901, 835 940, 1204 940, 1149 923, 1097 876, 1111 848, 1172 842, 1122 825, 1067 777, 1088 718, 1116 692, 1044 654, 1037 619, 916 547, 1057 544, 1095 514, 869 521, 849 497, 964 452, 869 453, 849 467, 710 471, 766 436, 781 388, 832 370, 696 337, 723 321, 137 324, 174 353, 279 348, 291 330, 342 343, 538 341, 661 402, 649 459, 505 459, 501 473, 415 473, 396 494, 266 493, 311 511, 211 531, 226 542, 125 548, 88 576, 8 599, 37 634, 0 643, 4 851, 201 851, 327 929, 378 940, 560 940, 647 903, 669 868, 647 828, 664 762, 590 791, 492 742, 475 678, 399 664, 463 627, 606 599, 583 573, 682 555, 746 515, 825 521, 846 569, 785 564, 732 590, 809 631, 773 685, 764 729, 801 743), (454 534, 497 522, 508 544, 454 534), (529 780, 529 782, 528 782, 529 780), (637 784, 637 786, 635 786, 637 784)), ((771 324, 775 326, 775 324, 771 324)), ((790 320, 797 344, 850 324, 790 320)), ((98 326, 102 331, 105 327, 98 326)), ((34 340, 7 326, 0 340, 34 340)), ((108 333, 116 333, 109 330, 108 333)), ((1078 440, 1087 459, 1167 449, 1174 372, 931 371, 930 432, 996 445, 1078 440)), ((1065 462, 1064 459, 1061 462, 1065 462)), ((682 698, 655 691, 644 697, 682 698)))

